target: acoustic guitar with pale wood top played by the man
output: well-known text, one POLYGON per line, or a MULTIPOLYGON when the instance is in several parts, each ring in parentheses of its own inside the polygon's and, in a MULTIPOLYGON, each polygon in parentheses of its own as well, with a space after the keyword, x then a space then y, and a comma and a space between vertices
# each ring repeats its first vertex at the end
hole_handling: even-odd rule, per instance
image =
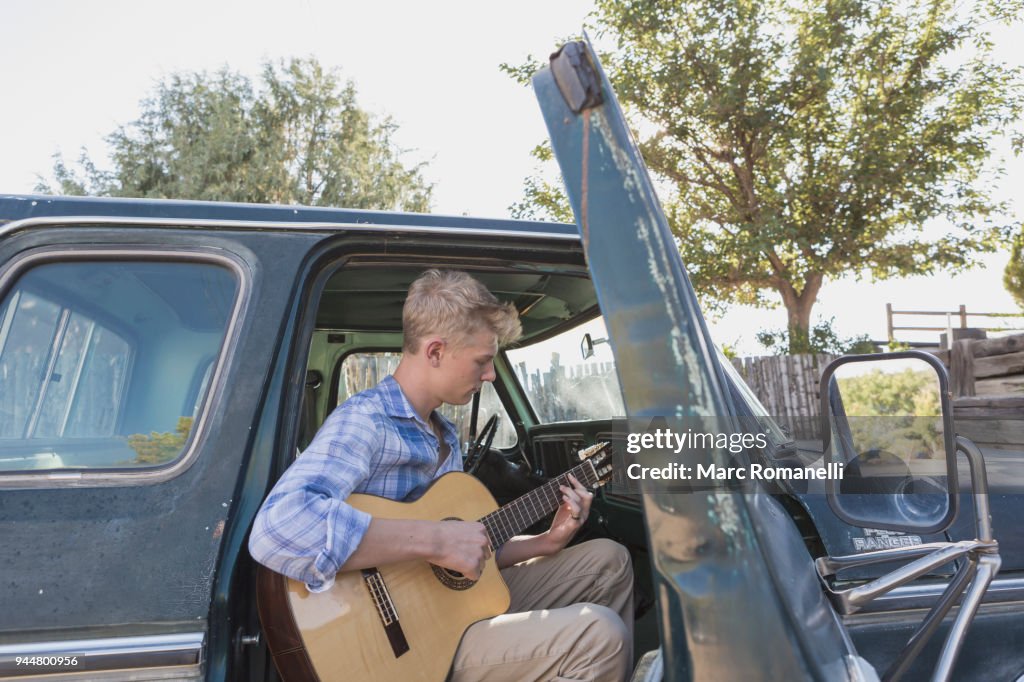
MULTIPOLYGON (((382 518, 475 519, 497 551, 558 508, 558 486, 568 485, 569 473, 587 487, 610 477, 608 443, 579 456, 579 466, 501 508, 482 483, 456 472, 438 478, 416 502, 358 494, 347 502, 382 518)), ((504 613, 510 603, 494 556, 478 581, 425 561, 404 561, 339 572, 334 586, 319 593, 264 567, 257 582, 260 622, 286 682, 442 682, 466 629, 504 613)))

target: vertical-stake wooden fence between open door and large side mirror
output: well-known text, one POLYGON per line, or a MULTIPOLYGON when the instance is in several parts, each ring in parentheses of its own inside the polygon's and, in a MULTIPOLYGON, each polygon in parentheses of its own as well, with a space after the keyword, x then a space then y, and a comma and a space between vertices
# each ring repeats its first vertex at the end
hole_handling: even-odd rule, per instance
POLYGON ((732 365, 780 426, 797 440, 820 438, 818 380, 838 355, 735 357, 732 365))

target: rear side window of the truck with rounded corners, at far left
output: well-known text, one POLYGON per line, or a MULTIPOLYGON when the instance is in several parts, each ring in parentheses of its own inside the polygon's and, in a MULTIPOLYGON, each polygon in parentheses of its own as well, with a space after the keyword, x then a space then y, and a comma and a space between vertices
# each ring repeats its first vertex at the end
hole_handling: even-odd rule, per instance
POLYGON ((176 459, 237 293, 207 263, 30 269, 0 304, 0 470, 176 459))

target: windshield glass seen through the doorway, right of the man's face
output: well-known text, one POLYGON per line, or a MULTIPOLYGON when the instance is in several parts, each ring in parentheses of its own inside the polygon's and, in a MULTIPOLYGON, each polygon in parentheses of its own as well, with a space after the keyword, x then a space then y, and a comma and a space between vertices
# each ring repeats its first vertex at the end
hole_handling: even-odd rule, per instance
POLYGON ((506 351, 529 403, 542 423, 611 419, 626 415, 607 342, 597 317, 561 334, 506 351), (590 335, 590 356, 582 347, 590 335))

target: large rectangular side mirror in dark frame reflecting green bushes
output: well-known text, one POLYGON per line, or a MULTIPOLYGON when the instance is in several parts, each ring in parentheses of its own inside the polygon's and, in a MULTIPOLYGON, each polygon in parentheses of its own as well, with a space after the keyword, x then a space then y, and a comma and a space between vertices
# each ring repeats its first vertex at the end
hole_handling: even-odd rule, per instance
POLYGON ((956 449, 949 378, 918 350, 850 355, 819 384, 828 505, 852 525, 930 535, 957 511, 956 449))

